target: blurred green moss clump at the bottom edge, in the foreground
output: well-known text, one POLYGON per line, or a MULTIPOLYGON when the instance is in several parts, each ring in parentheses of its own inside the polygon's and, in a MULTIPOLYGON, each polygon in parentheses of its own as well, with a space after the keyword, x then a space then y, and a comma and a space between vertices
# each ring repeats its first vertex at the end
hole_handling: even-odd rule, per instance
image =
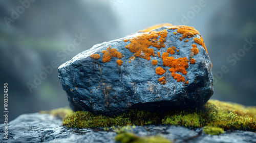
POLYGON ((116 141, 120 141, 122 143, 143 143, 143 142, 152 142, 152 143, 170 143, 167 138, 162 136, 142 136, 138 137, 134 133, 125 132, 120 133, 115 137, 116 141))

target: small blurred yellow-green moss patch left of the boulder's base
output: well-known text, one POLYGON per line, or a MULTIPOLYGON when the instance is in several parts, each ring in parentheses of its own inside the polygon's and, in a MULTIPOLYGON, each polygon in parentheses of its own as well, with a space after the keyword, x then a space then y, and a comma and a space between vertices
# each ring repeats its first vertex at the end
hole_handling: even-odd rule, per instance
POLYGON ((50 111, 40 111, 40 114, 52 114, 59 118, 64 118, 66 115, 73 113, 69 107, 53 109, 50 111))

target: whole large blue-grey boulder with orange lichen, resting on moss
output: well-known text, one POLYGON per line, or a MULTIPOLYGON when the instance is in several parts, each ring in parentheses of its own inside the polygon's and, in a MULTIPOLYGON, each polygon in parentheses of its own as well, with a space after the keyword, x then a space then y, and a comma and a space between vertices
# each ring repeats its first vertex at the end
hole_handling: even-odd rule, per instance
POLYGON ((154 28, 96 44, 63 63, 59 78, 71 109, 112 116, 204 105, 213 77, 202 36, 193 27, 154 28))

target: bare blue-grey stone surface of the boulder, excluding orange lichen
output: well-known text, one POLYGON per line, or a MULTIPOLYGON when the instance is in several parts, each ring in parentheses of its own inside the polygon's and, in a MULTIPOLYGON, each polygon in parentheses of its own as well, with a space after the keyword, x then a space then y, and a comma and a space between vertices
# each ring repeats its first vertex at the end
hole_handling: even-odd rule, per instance
MULTIPOLYGON (((170 27, 161 27, 154 31, 160 32, 167 30, 165 37, 165 47, 158 50, 150 45, 148 49, 153 49, 156 56, 146 58, 146 52, 141 52, 140 57, 131 59, 136 53, 132 53, 126 45, 131 40, 124 42, 124 39, 131 39, 140 34, 133 35, 103 42, 94 45, 90 50, 81 52, 72 60, 59 66, 59 79, 63 90, 68 94, 68 100, 72 110, 86 110, 95 114, 104 114, 113 116, 129 109, 139 109, 148 111, 165 111, 178 108, 195 108, 204 105, 213 94, 213 77, 211 73, 211 63, 209 56, 204 47, 194 41, 194 38, 200 38, 197 34, 195 37, 186 37, 180 41, 182 34, 174 32, 177 29, 168 29, 170 27), (185 42, 185 40, 189 40, 185 42), (192 44, 196 44, 199 49, 197 55, 192 54, 192 44), (122 65, 117 64, 117 57, 112 57, 111 61, 103 62, 103 53, 111 46, 124 57, 122 65), (175 59, 186 57, 188 60, 194 58, 195 64, 189 61, 187 74, 180 74, 186 82, 178 82, 172 77, 168 66, 163 66, 163 60, 157 56, 167 52, 168 47, 176 47, 175 59), (177 52, 179 50, 179 52, 177 52), (100 59, 92 59, 92 54, 99 54, 100 59), (152 60, 158 60, 157 65, 152 64, 152 60), (131 62, 130 62, 131 61, 131 62), (163 75, 156 74, 156 68, 165 69, 163 75), (161 84, 159 78, 165 77, 166 84, 161 84)), ((149 33, 147 33, 149 34, 149 33)), ((158 40, 160 35, 158 36, 158 40)), ((151 39, 150 41, 153 41, 151 39)), ((159 45, 161 42, 157 41, 159 45)), ((130 45, 131 46, 131 45, 130 45)), ((136 46, 138 48, 140 46, 136 46)))

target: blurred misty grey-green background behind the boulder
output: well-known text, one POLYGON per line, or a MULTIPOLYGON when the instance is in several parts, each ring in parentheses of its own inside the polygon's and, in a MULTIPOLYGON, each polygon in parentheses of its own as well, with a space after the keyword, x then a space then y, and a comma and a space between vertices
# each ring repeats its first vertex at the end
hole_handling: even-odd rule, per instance
POLYGON ((2 0, 1 112, 4 83, 8 83, 9 121, 23 113, 68 106, 56 65, 94 44, 158 23, 191 26, 203 36, 215 76, 211 99, 256 106, 255 6, 256 1, 239 0, 2 0), (68 48, 77 37, 79 44, 68 48))

